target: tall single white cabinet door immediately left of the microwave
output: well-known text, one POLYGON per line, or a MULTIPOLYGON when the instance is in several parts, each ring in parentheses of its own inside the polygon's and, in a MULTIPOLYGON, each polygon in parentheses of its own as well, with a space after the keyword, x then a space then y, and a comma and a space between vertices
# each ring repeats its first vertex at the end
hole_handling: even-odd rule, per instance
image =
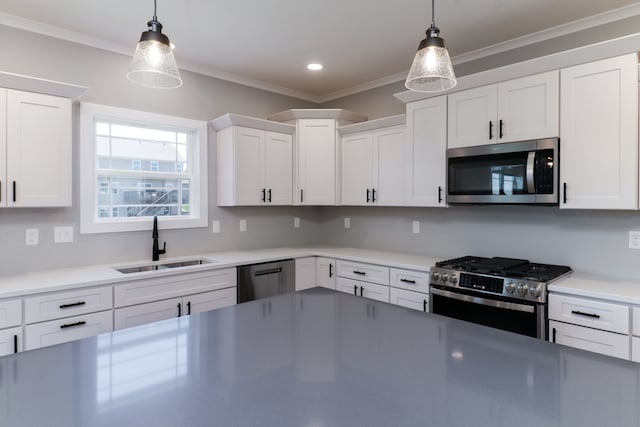
POLYGON ((407 104, 407 144, 407 205, 446 207, 446 96, 407 104))

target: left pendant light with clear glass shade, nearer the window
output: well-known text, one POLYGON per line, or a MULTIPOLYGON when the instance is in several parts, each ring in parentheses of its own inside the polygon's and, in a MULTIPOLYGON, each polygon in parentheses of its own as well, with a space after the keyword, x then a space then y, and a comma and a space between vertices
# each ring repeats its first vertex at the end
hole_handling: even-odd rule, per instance
POLYGON ((140 36, 127 78, 150 88, 173 89, 182 86, 169 37, 162 34, 162 24, 156 16, 156 0, 153 0, 153 18, 147 22, 147 26, 149 30, 140 36))

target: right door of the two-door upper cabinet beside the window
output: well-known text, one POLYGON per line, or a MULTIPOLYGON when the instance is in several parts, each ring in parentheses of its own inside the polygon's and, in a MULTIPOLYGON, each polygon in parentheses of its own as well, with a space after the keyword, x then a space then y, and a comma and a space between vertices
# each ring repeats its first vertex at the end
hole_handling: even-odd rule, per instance
POLYGON ((266 203, 290 205, 293 191, 293 159, 291 135, 265 132, 266 203))

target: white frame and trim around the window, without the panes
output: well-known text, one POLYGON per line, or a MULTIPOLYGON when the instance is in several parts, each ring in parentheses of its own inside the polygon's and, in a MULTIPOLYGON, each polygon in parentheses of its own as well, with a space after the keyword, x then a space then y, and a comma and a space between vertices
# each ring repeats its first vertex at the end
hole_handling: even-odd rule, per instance
POLYGON ((190 213, 188 217, 159 217, 160 229, 207 227, 207 122, 148 113, 106 105, 80 105, 80 233, 144 231, 153 228, 151 217, 98 218, 98 158, 96 156, 95 121, 112 119, 151 127, 174 127, 197 132, 197 141, 189 150, 192 169, 190 213))

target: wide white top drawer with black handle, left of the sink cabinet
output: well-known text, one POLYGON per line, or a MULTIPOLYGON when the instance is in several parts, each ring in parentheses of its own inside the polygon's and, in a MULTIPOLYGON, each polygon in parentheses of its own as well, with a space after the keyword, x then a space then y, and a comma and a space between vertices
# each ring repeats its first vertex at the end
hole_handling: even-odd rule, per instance
POLYGON ((25 323, 111 310, 113 289, 111 286, 103 286, 27 297, 24 300, 24 307, 25 323))

